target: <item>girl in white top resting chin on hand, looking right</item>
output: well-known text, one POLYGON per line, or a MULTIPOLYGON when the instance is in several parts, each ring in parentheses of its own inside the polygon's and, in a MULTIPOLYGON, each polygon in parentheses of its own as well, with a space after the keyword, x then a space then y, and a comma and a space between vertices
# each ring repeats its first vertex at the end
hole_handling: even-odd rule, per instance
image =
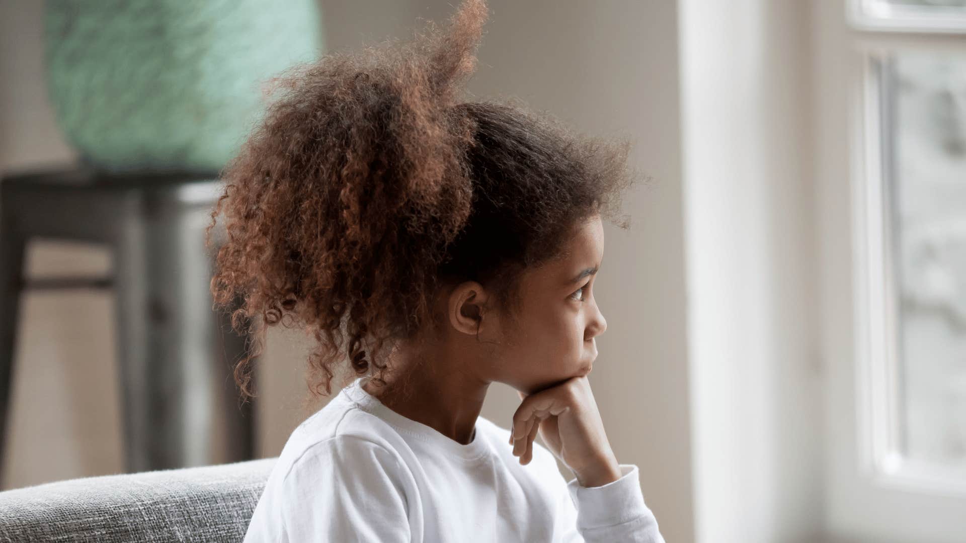
POLYGON ((246 542, 664 541, 587 381, 628 145, 458 100, 487 16, 467 0, 445 30, 295 71, 224 172, 216 303, 312 331, 317 393, 351 366, 246 542), (520 393, 510 430, 479 416, 492 383, 520 393))

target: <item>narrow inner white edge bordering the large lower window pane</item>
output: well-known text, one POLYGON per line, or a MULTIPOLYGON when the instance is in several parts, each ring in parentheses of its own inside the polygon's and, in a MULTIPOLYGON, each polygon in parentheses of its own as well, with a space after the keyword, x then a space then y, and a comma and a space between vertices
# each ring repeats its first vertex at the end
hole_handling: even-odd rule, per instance
MULTIPOLYGON (((894 233, 890 210, 894 172, 886 163, 891 150, 885 137, 892 128, 885 110, 883 75, 893 50, 869 47, 863 54, 862 119, 853 146, 856 218, 855 306, 857 398, 863 469, 883 485, 911 492, 966 497, 966 472, 936 468, 903 458, 898 452, 895 421, 900 418, 898 305, 895 300, 894 233), (873 263, 880 263, 873 265, 873 263)), ((966 59, 966 55, 963 57, 966 59)), ((966 514, 966 513, 964 513, 966 514)))

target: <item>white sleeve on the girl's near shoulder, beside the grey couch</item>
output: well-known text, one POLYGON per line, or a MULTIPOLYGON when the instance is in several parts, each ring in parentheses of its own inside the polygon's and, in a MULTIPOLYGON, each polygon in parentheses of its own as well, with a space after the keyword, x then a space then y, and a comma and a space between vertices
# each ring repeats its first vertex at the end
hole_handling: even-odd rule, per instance
POLYGON ((404 471, 395 454, 365 439, 339 436, 313 445, 282 481, 287 540, 409 541, 404 471))

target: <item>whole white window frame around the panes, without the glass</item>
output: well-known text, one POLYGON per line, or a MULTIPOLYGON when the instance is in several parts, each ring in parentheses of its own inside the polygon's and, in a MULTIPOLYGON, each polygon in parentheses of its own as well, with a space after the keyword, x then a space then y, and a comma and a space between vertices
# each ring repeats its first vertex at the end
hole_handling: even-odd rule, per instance
POLYGON ((890 422, 899 409, 898 360, 891 331, 894 267, 881 265, 892 259, 893 236, 885 214, 890 192, 882 183, 889 172, 882 163, 878 63, 893 50, 966 54, 966 36, 935 25, 857 23, 856 6, 865 0, 829 1, 838 4, 838 14, 816 8, 812 21, 813 36, 824 42, 814 44, 820 53, 813 103, 826 380, 825 529, 835 541, 962 542, 964 481, 891 453, 897 444, 890 422))

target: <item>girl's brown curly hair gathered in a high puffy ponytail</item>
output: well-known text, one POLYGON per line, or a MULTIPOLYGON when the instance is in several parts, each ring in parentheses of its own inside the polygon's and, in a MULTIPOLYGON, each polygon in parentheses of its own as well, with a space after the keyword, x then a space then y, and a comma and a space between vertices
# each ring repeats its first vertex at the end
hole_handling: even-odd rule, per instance
POLYGON ((582 219, 613 218, 634 183, 627 141, 580 136, 515 100, 459 100, 487 17, 467 0, 444 31, 428 21, 410 42, 273 80, 281 96, 223 170, 208 227, 211 243, 224 213, 214 304, 254 338, 235 367, 242 397, 283 317, 318 343, 317 394, 341 360, 381 380, 396 341, 434 328, 441 286, 479 281, 512 315, 521 271, 558 256, 582 219))

